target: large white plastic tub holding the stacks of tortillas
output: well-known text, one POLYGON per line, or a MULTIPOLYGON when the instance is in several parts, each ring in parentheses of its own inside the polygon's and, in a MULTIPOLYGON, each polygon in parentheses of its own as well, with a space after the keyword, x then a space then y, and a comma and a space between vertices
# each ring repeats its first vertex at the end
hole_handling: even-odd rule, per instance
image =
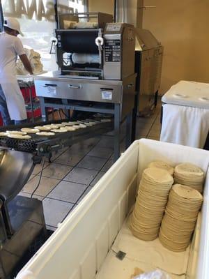
MULTIPOLYGON (((140 269, 142 266, 144 271, 150 266, 157 268, 157 261, 159 262, 161 258, 160 264, 164 264, 162 268, 165 270, 170 256, 173 257, 173 264, 178 264, 179 254, 171 252, 172 255, 167 257, 168 250, 167 252, 164 250, 164 255, 156 254, 156 261, 150 257, 150 262, 147 262, 149 261, 147 255, 142 260, 134 259, 134 252, 141 247, 140 240, 131 236, 127 225, 123 224, 134 204, 141 173, 153 160, 167 160, 171 165, 190 162, 207 173, 202 211, 192 245, 187 250, 185 258, 187 261, 185 274, 178 276, 171 274, 171 278, 208 279, 209 152, 153 140, 136 141, 123 153, 93 190, 84 197, 75 211, 72 211, 45 245, 24 266, 17 278, 129 279, 135 267, 140 269), (130 241, 125 239, 127 255, 122 261, 115 257, 114 251, 114 246, 126 249, 125 244, 120 242, 125 236, 121 232, 132 237, 130 241)), ((151 247, 153 241, 144 245, 151 247)), ((156 252, 156 249, 154 250, 156 252)), ((148 250, 147 254, 149 255, 148 250)))

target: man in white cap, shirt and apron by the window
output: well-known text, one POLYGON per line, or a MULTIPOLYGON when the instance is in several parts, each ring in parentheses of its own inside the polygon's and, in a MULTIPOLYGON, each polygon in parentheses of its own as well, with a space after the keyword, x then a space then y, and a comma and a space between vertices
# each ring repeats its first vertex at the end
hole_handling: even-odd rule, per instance
MULTIPOLYGON (((33 75, 31 63, 17 35, 22 35, 20 23, 7 18, 3 23, 4 32, 0 33, 0 111, 5 126, 26 122, 24 98, 16 77, 17 56, 24 68, 33 75)), ((23 35, 22 35, 23 36, 23 35)))

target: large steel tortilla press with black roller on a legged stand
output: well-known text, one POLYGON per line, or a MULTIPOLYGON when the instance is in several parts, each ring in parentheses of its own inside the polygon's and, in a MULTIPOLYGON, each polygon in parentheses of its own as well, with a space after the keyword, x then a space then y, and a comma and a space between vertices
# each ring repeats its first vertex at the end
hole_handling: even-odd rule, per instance
POLYGON ((58 71, 34 77, 42 119, 47 107, 114 116, 114 158, 120 156, 120 129, 126 119, 126 147, 134 140, 135 31, 104 13, 59 13, 58 71))

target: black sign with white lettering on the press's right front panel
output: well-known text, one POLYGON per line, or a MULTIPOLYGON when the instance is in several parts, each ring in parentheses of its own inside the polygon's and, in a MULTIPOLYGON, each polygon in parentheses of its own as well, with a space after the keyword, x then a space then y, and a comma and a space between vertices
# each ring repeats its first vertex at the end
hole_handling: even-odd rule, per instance
POLYGON ((106 40, 104 47, 105 62, 121 61, 121 40, 106 40))

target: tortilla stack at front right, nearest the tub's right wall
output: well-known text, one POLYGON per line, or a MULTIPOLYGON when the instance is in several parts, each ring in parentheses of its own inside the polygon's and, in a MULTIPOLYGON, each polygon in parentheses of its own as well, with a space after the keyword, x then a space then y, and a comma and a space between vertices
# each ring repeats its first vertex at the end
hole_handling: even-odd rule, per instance
POLYGON ((159 234, 164 247, 173 252, 186 250, 202 202, 201 193, 194 188, 180 184, 172 187, 159 234))

